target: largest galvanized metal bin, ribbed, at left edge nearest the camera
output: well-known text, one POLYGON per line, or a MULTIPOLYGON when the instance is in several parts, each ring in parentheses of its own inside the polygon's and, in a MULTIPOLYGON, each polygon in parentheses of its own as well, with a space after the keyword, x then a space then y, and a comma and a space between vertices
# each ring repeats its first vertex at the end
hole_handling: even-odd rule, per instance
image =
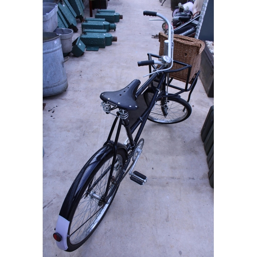
POLYGON ((43 97, 63 93, 67 87, 60 35, 43 32, 43 97))

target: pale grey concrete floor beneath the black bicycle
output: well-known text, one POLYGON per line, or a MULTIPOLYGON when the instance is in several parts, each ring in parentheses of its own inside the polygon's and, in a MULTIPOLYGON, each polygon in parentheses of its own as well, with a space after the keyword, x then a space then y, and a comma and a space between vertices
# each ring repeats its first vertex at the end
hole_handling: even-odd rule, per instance
MULTIPOLYGON (((213 98, 200 79, 192 94, 192 114, 184 122, 146 122, 143 153, 136 170, 143 186, 127 176, 98 229, 78 250, 61 251, 53 240, 64 197, 85 162, 104 143, 114 117, 106 115, 99 95, 134 79, 146 80, 138 67, 148 52, 158 53, 162 22, 149 21, 144 10, 172 18, 170 1, 110 0, 108 9, 123 15, 118 41, 99 51, 85 51, 65 62, 68 88, 43 98, 43 256, 213 256, 213 189, 200 131, 213 98), (51 110, 51 111, 50 111, 51 110), (54 112, 53 112, 54 111, 54 112)), ((93 14, 96 10, 93 10, 93 14)), ((89 9, 85 9, 89 17, 89 9)), ((74 33, 75 40, 81 33, 74 33)), ((183 97, 187 99, 187 97, 183 97)))

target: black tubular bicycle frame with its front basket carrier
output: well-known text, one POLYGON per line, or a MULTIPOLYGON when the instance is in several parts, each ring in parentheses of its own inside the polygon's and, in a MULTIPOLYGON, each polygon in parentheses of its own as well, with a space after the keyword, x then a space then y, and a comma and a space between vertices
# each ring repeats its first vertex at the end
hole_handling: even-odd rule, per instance
MULTIPOLYGON (((152 54, 152 53, 148 53, 148 59, 149 60, 152 60, 152 57, 155 57, 155 58, 160 58, 160 56, 157 56, 156 54, 152 54)), ((196 82, 197 82, 197 78, 199 76, 199 71, 197 72, 197 74, 195 75, 194 79, 193 79, 193 82, 191 84, 190 87, 188 87, 189 85, 189 76, 190 76, 190 72, 191 72, 191 65, 189 64, 186 64, 186 63, 182 63, 182 62, 178 62, 178 61, 175 61, 174 60, 174 63, 178 63, 178 64, 181 64, 183 67, 179 68, 179 69, 174 69, 174 70, 162 70, 161 72, 155 72, 154 74, 152 74, 152 68, 154 70, 157 69, 157 67, 155 65, 149 65, 149 72, 150 72, 150 78, 137 90, 136 92, 136 99, 138 99, 138 97, 155 81, 155 82, 158 82, 158 85, 156 87, 152 87, 152 89, 154 89, 154 95, 152 97, 152 100, 150 101, 150 104, 148 105, 148 107, 146 107, 145 111, 143 113, 141 113, 141 115, 137 118, 137 120, 134 122, 134 124, 130 124, 130 121, 128 119, 128 117, 126 118, 122 118, 120 115, 119 115, 119 112, 117 112, 117 115, 116 115, 116 118, 113 122, 113 125, 112 125, 112 128, 111 128, 111 131, 109 132, 109 135, 108 135, 108 138, 106 140, 106 142, 104 143, 104 145, 106 144, 112 144, 113 145, 113 148, 114 148, 114 158, 113 158, 113 163, 112 163, 112 168, 111 168, 111 173, 110 173, 110 176, 109 176, 109 179, 108 179, 108 184, 107 184, 107 187, 106 187, 106 192, 105 192, 105 197, 104 197, 104 203, 107 203, 109 197, 113 194, 113 192, 116 190, 116 188, 119 186, 121 180, 122 180, 122 177, 123 175, 125 174, 125 171, 126 169, 128 168, 128 165, 130 164, 130 160, 131 160, 131 157, 128 157, 126 163, 124 164, 123 168, 122 168, 122 171, 121 171, 121 174, 120 176, 117 178, 117 181, 116 181, 116 185, 115 187, 113 187, 113 189, 108 193, 108 189, 109 189, 109 186, 111 185, 111 180, 112 180, 112 176, 113 176, 113 170, 114 170, 114 166, 115 166, 115 160, 116 160, 116 156, 117 156, 117 144, 118 144, 118 140, 119 140, 119 136, 120 136, 120 132, 121 132, 121 127, 122 125, 124 126, 125 128, 125 131, 126 131, 126 135, 127 135, 127 143, 126 143, 126 150, 127 150, 127 153, 130 152, 130 151, 133 151, 140 136, 141 136, 141 133, 143 131, 143 128, 145 126, 145 123, 148 119, 148 116, 152 110, 152 108, 154 107, 155 105, 155 100, 156 98, 158 97, 158 94, 160 91, 163 91, 164 90, 164 87, 166 87, 167 89, 165 90, 166 91, 166 94, 165 96, 166 97, 169 97, 169 96, 178 96, 184 92, 188 92, 190 91, 189 93, 189 96, 188 96, 188 102, 190 100, 190 96, 192 94, 192 91, 196 85, 196 82), (187 81, 186 81, 186 85, 185 85, 185 88, 181 88, 181 87, 177 87, 177 86, 174 86, 174 85, 171 85, 171 82, 173 80, 173 78, 171 77, 171 79, 169 78, 170 74, 172 74, 173 72, 177 72, 177 71, 180 71, 180 70, 183 70, 183 69, 188 69, 188 76, 187 76, 187 81), (159 77, 159 78, 158 78, 159 77), (157 79, 158 78, 158 79, 157 79), (178 90, 177 93, 175 94, 169 94, 168 93, 168 88, 169 87, 172 87, 172 88, 175 88, 178 90), (118 128, 117 128, 117 131, 116 131, 116 136, 115 136, 115 140, 112 141, 111 138, 114 134, 114 130, 115 130, 115 127, 117 125, 117 121, 119 120, 119 123, 118 123, 118 128), (133 137, 133 134, 134 132, 137 130, 138 128, 138 131, 137 131, 137 134, 135 136, 135 138, 133 137)), ((160 67, 159 69, 161 70, 162 67, 160 67)), ((116 108, 113 108, 112 110, 114 110, 116 108)), ((133 112, 133 111, 131 111, 133 112)))

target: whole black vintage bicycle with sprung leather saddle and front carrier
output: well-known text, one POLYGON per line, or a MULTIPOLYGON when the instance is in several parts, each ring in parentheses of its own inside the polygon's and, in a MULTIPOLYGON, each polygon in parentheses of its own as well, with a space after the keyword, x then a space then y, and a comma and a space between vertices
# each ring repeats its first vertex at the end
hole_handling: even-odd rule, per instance
POLYGON ((172 73, 188 69, 190 74, 191 65, 173 60, 173 28, 169 20, 152 11, 144 11, 143 15, 158 16, 169 25, 164 55, 148 53, 148 60, 138 62, 138 66, 149 66, 146 75, 149 79, 141 87, 140 81, 135 79, 121 90, 100 95, 103 111, 115 118, 102 148, 86 162, 64 199, 53 234, 62 250, 74 251, 85 243, 102 221, 127 173, 139 185, 146 182, 145 175, 134 171, 143 149, 144 139, 140 139, 140 135, 146 121, 173 124, 186 120, 191 114, 189 100, 199 71, 189 87, 188 80, 185 88, 172 85, 172 73), (173 63, 182 67, 171 70, 173 63), (170 88, 177 92, 169 93, 170 88), (180 97, 186 91, 189 92, 187 101, 180 97), (142 112, 138 113, 138 109, 142 112), (130 116, 135 113, 136 119, 131 124, 130 116), (122 127, 127 135, 124 143, 119 142, 122 127))

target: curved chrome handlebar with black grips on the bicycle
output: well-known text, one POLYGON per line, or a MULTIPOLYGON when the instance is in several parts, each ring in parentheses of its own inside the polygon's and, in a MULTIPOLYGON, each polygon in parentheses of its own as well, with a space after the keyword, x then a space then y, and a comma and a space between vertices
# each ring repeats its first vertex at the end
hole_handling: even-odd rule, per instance
MULTIPOLYGON (((162 60, 159 61, 155 61, 155 60, 148 60, 148 61, 140 61, 138 62, 138 66, 144 66, 144 65, 153 65, 153 64, 159 64, 159 65, 168 65, 169 67, 166 69, 161 69, 161 70, 156 70, 154 72, 152 72, 151 74, 155 73, 155 72, 159 72, 159 71, 165 71, 165 70, 169 70, 171 69, 172 65, 173 65, 173 26, 171 25, 171 22, 169 21, 168 18, 166 18, 165 16, 163 16, 162 14, 158 13, 158 12, 153 12, 153 11, 143 11, 143 15, 147 15, 147 16, 158 16, 161 18, 161 21, 164 21, 167 23, 168 25, 168 57, 171 59, 171 63, 167 63, 167 62, 163 62, 162 60), (169 65, 170 64, 170 65, 169 65)), ((148 75, 151 75, 148 74, 148 75)), ((148 76, 145 75, 145 76, 148 76)), ((144 76, 144 77, 145 77, 144 76)))

